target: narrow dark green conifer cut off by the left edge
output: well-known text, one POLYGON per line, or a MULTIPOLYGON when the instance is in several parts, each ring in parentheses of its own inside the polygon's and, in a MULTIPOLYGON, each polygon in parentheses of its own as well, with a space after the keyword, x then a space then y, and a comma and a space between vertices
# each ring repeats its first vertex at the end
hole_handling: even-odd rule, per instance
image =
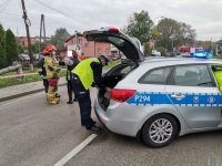
POLYGON ((3 30, 3 27, 1 25, 0 23, 0 69, 7 66, 6 64, 6 51, 4 51, 4 30, 3 30))

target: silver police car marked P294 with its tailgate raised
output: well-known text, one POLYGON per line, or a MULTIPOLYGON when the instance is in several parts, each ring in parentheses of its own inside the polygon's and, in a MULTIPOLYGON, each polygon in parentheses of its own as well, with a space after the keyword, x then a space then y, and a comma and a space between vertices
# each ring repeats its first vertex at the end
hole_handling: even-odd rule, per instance
POLYGON ((114 28, 87 31, 89 41, 110 42, 128 60, 104 76, 95 114, 110 131, 162 147, 176 136, 222 128, 222 95, 212 68, 222 61, 199 58, 144 59, 140 44, 114 28))

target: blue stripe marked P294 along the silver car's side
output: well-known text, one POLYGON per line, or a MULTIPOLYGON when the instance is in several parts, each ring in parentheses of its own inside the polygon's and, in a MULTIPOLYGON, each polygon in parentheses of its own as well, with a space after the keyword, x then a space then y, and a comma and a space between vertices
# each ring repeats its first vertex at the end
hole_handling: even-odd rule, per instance
POLYGON ((222 95, 220 93, 137 92, 127 103, 135 105, 222 106, 222 95), (175 98, 172 96, 173 94, 183 95, 183 98, 175 98))

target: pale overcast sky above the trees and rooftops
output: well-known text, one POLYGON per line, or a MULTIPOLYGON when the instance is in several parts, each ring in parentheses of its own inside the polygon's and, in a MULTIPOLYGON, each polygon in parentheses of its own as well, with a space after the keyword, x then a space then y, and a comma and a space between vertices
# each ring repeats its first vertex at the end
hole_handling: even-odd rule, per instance
MULTIPOLYGON (((123 28, 133 12, 145 10, 158 23, 161 17, 190 24, 198 40, 222 39, 222 0, 24 0, 31 35, 40 33, 40 15, 46 17, 47 35, 58 28, 73 34, 101 27, 123 28), (46 3, 49 7, 42 4, 46 3), (57 12, 56 10, 60 11, 57 12)), ((0 0, 0 23, 16 35, 26 35, 21 0, 0 0)))

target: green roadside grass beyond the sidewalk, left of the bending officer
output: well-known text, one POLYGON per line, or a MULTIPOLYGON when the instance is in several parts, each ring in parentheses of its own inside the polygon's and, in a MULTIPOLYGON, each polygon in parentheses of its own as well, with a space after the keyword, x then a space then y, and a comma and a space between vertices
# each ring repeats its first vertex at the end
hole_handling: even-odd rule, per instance
MULTIPOLYGON (((23 71, 23 73, 33 73, 30 71, 23 71)), ((42 79, 39 76, 39 73, 36 71, 34 73, 37 73, 36 75, 24 75, 22 77, 4 77, 4 79, 0 79, 0 89, 2 87, 7 87, 7 86, 13 86, 13 85, 19 85, 19 84, 26 84, 26 83, 30 83, 30 82, 37 82, 37 81, 41 81, 42 79)), ((60 71, 59 76, 63 77, 65 76, 67 71, 60 71)), ((10 72, 3 75, 17 75, 17 72, 10 72)), ((2 75, 2 76, 3 76, 2 75)))

